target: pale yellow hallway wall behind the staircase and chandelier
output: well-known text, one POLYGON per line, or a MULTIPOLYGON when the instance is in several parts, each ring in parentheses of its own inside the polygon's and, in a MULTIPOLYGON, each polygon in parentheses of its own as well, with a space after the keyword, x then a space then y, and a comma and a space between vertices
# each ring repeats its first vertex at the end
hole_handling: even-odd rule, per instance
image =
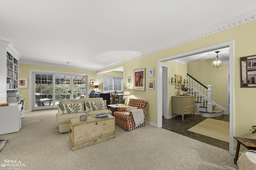
MULTIPOLYGON (((221 58, 221 55, 220 55, 221 58)), ((199 82, 212 85, 212 101, 227 109, 227 72, 229 64, 222 64, 216 68, 212 66, 212 59, 188 63, 188 74, 199 82), (222 95, 224 94, 224 96, 222 95)), ((207 92, 206 92, 207 96, 207 92)))

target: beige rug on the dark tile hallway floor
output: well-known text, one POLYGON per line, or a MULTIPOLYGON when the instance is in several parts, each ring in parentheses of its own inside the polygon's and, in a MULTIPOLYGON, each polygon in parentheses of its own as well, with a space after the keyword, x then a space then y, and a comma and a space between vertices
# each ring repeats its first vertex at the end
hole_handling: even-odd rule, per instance
POLYGON ((229 122, 207 118, 188 131, 229 143, 229 122))

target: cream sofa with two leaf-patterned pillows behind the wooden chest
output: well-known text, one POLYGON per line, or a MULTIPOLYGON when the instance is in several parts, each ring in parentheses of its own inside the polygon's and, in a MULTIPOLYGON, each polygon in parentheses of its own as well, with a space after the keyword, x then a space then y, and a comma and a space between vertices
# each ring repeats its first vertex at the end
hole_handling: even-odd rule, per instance
POLYGON ((80 115, 96 115, 99 113, 112 114, 112 111, 107 109, 106 100, 103 100, 103 98, 60 100, 58 104, 58 113, 56 114, 56 123, 59 125, 59 132, 66 133, 70 131, 69 120, 71 118, 80 117, 80 115), (97 107, 97 104, 100 106, 97 107), (73 108, 70 106, 73 106, 73 108), (82 108, 82 106, 84 106, 84 108, 82 108))

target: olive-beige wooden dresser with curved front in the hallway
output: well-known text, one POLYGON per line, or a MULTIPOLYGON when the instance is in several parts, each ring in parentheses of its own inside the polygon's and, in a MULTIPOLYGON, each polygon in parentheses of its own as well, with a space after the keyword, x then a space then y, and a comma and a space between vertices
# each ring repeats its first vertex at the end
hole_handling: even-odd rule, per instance
POLYGON ((173 113, 184 115, 194 113, 195 111, 195 96, 172 96, 172 117, 173 113))

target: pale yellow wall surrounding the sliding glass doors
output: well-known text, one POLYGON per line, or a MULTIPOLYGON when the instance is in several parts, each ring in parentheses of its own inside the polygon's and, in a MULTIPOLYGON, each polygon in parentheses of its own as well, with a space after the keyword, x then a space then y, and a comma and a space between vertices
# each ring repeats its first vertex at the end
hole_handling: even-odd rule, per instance
MULTIPOLYGON (((38 66, 38 65, 30 65, 30 64, 19 64, 19 78, 28 78, 28 88, 19 88, 19 93, 22 95, 20 98, 25 99, 25 110, 29 110, 29 100, 30 100, 30 89, 29 89, 29 81, 30 81, 30 70, 40 70, 40 71, 52 71, 52 72, 66 72, 66 73, 79 73, 79 74, 89 74, 89 80, 96 80, 96 71, 88 71, 88 70, 76 70, 69 68, 60 68, 60 67, 48 67, 48 66, 38 66)), ((89 91, 92 90, 89 86, 89 91)))

